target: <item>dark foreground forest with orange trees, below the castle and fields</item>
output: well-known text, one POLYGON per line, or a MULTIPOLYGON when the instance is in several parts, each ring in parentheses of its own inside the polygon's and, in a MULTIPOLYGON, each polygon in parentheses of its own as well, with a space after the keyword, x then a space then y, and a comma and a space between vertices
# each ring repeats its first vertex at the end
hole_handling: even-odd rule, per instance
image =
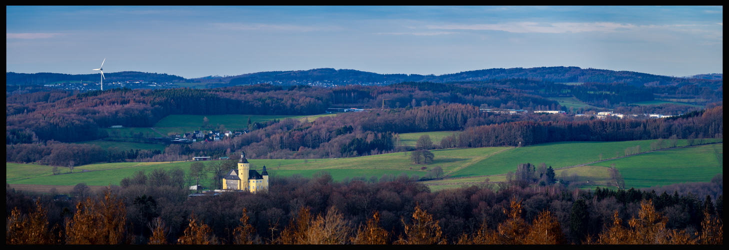
POLYGON ((187 198, 182 170, 72 199, 6 189, 8 244, 722 244, 722 176, 689 192, 489 182, 431 192, 407 176, 275 177, 187 198))

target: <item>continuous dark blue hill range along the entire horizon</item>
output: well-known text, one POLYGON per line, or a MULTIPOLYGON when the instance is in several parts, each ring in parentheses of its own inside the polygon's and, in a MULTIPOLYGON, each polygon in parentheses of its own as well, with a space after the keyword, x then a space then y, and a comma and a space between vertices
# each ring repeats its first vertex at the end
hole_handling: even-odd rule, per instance
MULTIPOLYGON (((461 71, 454 74, 377 74, 354 69, 310 69, 304 71, 265 71, 238 76, 208 76, 184 79, 175 75, 122 71, 104 74, 107 81, 145 80, 147 82, 202 82, 223 83, 223 85, 391 85, 399 82, 464 82, 492 79, 540 79, 550 82, 624 82, 628 85, 698 85, 716 89, 722 85, 721 74, 704 74, 696 77, 668 77, 633 71, 611 71, 607 69, 580 69, 579 67, 539 67, 511 69, 481 69, 461 71)), ((43 85, 50 82, 83 80, 98 82, 98 74, 23 74, 7 72, 7 85, 43 85)))

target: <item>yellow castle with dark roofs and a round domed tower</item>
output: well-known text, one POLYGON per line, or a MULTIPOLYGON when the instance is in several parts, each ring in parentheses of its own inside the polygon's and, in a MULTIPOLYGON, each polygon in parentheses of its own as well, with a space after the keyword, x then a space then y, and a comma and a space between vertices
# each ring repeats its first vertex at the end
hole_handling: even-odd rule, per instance
POLYGON ((241 152, 241 160, 238 160, 238 169, 233 169, 223 177, 223 190, 248 190, 249 192, 260 192, 268 190, 268 172, 263 166, 262 172, 258 173, 251 169, 246 159, 246 152, 241 152))

